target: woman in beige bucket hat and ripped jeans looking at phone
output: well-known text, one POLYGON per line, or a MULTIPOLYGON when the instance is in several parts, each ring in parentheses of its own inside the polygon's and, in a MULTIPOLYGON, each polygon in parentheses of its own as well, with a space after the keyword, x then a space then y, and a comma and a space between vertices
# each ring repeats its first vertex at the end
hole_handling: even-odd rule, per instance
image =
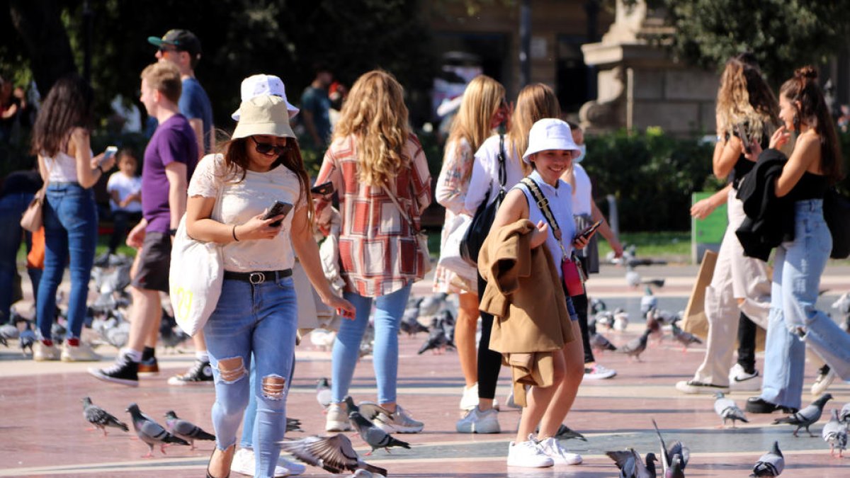
POLYGON ((205 156, 195 168, 186 230, 196 240, 221 244, 224 256, 221 299, 204 327, 216 389, 216 450, 207 476, 229 475, 236 430, 253 393, 258 404, 254 475, 266 477, 274 476, 286 431, 286 377, 297 326, 294 254, 326 304, 346 316, 354 307, 331 293, 321 270, 311 234, 309 179, 286 100, 258 96, 243 101, 239 112, 224 153, 205 156), (284 204, 281 213, 268 217, 277 202, 284 204), (248 379, 252 356, 255 390, 248 379))

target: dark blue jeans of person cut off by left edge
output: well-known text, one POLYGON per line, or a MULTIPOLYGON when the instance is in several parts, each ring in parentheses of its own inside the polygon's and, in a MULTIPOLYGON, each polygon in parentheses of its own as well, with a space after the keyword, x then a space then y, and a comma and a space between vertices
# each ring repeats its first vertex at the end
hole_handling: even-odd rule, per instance
MULTIPOLYGON (((32 201, 31 193, 12 193, 0 197, 0 323, 8 320, 12 306, 14 276, 18 273, 20 241, 26 241, 26 252, 32 248, 31 234, 20 227, 20 218, 32 201)), ((41 269, 27 269, 32 282, 32 292, 38 296, 41 269)))

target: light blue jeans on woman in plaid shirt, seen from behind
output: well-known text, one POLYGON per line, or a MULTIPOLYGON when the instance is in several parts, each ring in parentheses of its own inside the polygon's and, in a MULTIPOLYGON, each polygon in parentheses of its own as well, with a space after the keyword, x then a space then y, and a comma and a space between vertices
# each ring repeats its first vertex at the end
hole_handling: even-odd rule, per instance
MULTIPOLYGON (((411 284, 394 293, 374 298, 375 301, 375 346, 372 366, 375 367, 378 403, 395 402, 395 384, 399 374, 399 322, 405 312, 407 298, 411 295, 411 284)), ((331 392, 334 402, 343 401, 348 395, 354 366, 360 356, 360 340, 369 323, 372 298, 359 293, 344 293, 348 302, 354 304, 354 320, 343 319, 333 342, 331 367, 333 381, 331 392)))

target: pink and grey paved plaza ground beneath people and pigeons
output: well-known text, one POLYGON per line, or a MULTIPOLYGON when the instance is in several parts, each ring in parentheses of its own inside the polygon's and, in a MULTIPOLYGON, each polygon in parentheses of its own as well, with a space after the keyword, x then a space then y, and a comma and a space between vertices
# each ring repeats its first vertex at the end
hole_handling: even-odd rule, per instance
MULTIPOLYGON (((642 269, 643 276, 665 276, 667 285, 658 294, 661 308, 678 310, 688 298, 694 266, 667 266, 642 269)), ((622 270, 605 267, 601 276, 589 284, 592 296, 603 298, 609 308, 623 306, 632 322, 626 332, 604 332, 615 344, 625 343, 642 331, 638 305, 640 290, 626 287, 622 270)), ((830 266, 824 279, 825 293, 819 304, 826 310, 838 295, 850 290, 850 267, 830 266)), ((430 282, 417 284, 414 293, 429 293, 430 282)), ((828 310, 835 312, 834 310, 828 310)), ((507 468, 507 443, 513 440, 519 411, 502 408, 499 420, 502 433, 498 435, 460 435, 455 421, 462 391, 462 375, 455 352, 443 355, 416 355, 423 334, 399 339, 399 402, 414 418, 425 423, 417 435, 401 435, 410 441, 411 449, 394 449, 391 454, 377 452, 367 458, 371 463, 388 469, 392 476, 416 477, 556 477, 556 476, 616 476, 617 469, 604 452, 634 447, 638 452, 658 452, 650 418, 655 418, 668 441, 681 440, 691 449, 688 476, 746 476, 752 464, 773 444, 785 453, 784 476, 850 476, 850 458, 830 458, 829 447, 820 438, 825 419, 812 427, 815 438, 804 432, 800 438, 791 435, 789 426, 772 425, 774 415, 749 415, 750 424, 740 424, 737 430, 719 429, 720 419, 712 408, 713 397, 683 395, 674 389, 678 380, 691 378, 705 350, 692 347, 683 353, 670 339, 650 345, 643 361, 630 361, 618 354, 598 356, 606 367, 615 368, 615 378, 586 381, 581 385, 575 406, 566 423, 587 436, 584 441, 565 441, 570 451, 579 452, 584 464, 558 466, 548 469, 507 468)), ((187 344, 187 346, 189 346, 187 344)), ((116 350, 99 350, 111 360, 116 350)), ((193 361, 189 353, 161 355, 161 373, 143 378, 139 388, 105 384, 90 377, 86 368, 91 364, 43 362, 24 360, 16 348, 0 347, 0 429, 5 440, 0 447, 0 476, 67 476, 67 477, 154 477, 202 476, 212 452, 212 442, 201 441, 199 448, 169 447, 167 455, 158 450, 155 458, 140 458, 147 447, 130 439, 129 434, 111 429, 103 437, 99 431, 87 431, 82 418, 83 396, 92 400, 118 418, 129 419, 124 412, 127 404, 137 402, 144 413, 161 418, 174 410, 181 418, 212 431, 210 407, 214 400, 212 387, 178 388, 167 385, 173 373, 184 371, 193 361)), ((108 362, 101 362, 107 365, 108 362)), ((762 368, 762 357, 758 357, 762 368)), ((815 368, 807 366, 807 391, 812 384, 815 368)), ((315 400, 318 378, 330 376, 330 353, 316 350, 307 343, 297 350, 297 368, 287 402, 287 415, 300 418, 305 433, 291 433, 297 438, 323 433, 325 416, 315 400)), ((498 395, 504 401, 510 388, 507 370, 502 370, 498 395)), ((850 401, 850 385, 837 382, 830 387, 834 401, 827 410, 842 407, 850 401)), ((355 401, 375 399, 375 379, 371 357, 365 357, 357 367, 351 390, 355 401)), ((730 396, 744 407, 751 392, 734 392, 730 396)), ((164 418, 162 418, 164 422, 164 418)), ((351 435, 355 448, 366 452, 359 437, 351 435)), ((306 475, 329 475, 322 469, 309 468, 306 475)), ((232 475, 237 476, 237 475, 232 475)))

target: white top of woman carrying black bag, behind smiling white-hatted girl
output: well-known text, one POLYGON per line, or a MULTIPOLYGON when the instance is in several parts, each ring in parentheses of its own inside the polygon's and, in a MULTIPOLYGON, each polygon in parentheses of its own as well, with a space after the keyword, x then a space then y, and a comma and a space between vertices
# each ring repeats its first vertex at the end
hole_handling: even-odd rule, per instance
MULTIPOLYGON (((514 151, 511 142, 505 135, 505 171, 507 181, 505 191, 523 180, 523 168, 519 155, 514 151)), ((469 178, 469 189, 464 201, 464 208, 469 215, 474 215, 479 205, 484 202, 484 196, 490 191, 487 201, 493 202, 499 192, 499 135, 494 134, 484 139, 484 143, 475 151, 475 162, 473 162, 473 174, 469 178)))

